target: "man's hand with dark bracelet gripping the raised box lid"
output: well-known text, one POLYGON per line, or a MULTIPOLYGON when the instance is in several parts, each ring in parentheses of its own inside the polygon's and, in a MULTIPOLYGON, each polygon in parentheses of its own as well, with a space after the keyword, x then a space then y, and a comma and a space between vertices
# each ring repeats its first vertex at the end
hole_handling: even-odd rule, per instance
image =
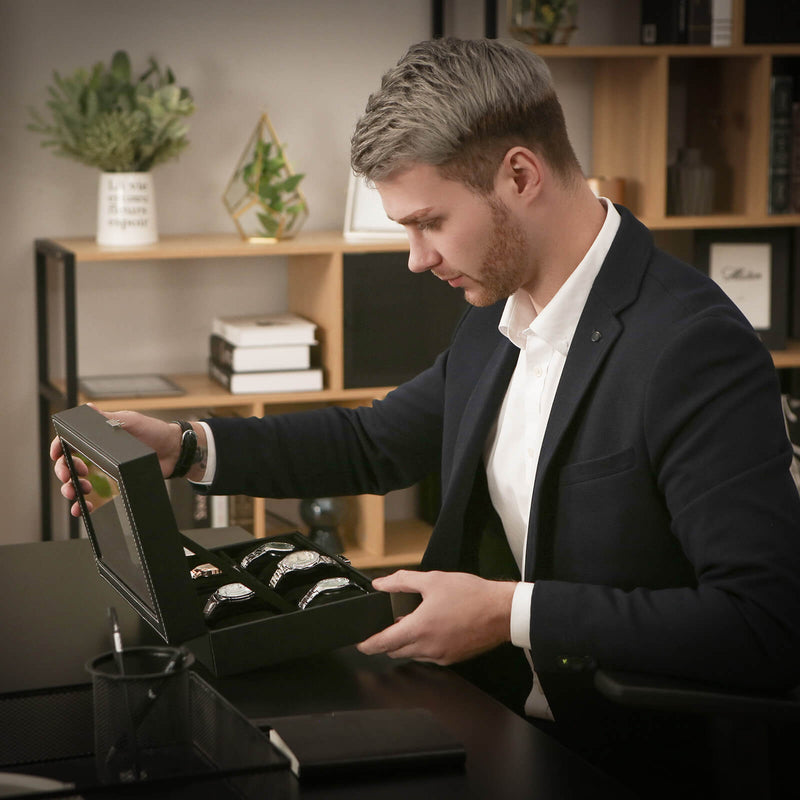
MULTIPOLYGON (((128 433, 155 450, 158 455, 161 474, 164 477, 172 474, 181 447, 181 430, 177 425, 153 417, 146 417, 136 411, 100 411, 99 413, 107 419, 119 420, 128 433)), ((56 473, 56 477, 61 481, 61 494, 67 500, 76 500, 75 487, 70 480, 69 467, 67 467, 64 453, 61 449, 61 440, 57 436, 50 444, 50 458, 55 461, 53 470, 56 473)), ((75 470, 80 476, 81 492, 89 494, 92 491, 92 486, 88 478, 85 477, 88 475, 89 470, 81 459, 74 459, 74 464, 75 470)), ((87 506, 91 511, 91 503, 88 503, 87 506)), ((81 509, 77 502, 73 502, 70 513, 73 517, 81 515, 81 509)))

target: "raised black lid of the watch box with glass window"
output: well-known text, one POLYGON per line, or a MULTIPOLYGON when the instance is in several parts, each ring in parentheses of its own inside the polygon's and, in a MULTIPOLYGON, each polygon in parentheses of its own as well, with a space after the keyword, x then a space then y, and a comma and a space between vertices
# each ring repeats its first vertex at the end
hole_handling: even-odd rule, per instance
POLYGON ((100 574, 165 640, 207 633, 156 453, 90 406, 53 415, 73 484, 90 465, 90 512, 79 504, 100 574))

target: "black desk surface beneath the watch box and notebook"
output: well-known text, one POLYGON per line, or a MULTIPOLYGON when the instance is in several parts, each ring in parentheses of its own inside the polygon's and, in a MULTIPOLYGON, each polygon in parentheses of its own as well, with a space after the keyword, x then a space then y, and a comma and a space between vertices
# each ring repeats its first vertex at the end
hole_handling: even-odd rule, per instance
MULTIPOLYGON (((0 695, 87 683, 85 662, 109 649, 109 605, 117 608, 126 645, 158 641, 99 577, 86 540, 0 547, 0 586, 0 695)), ((611 779, 446 669, 367 657, 348 647, 244 675, 204 677, 251 717, 428 708, 467 749, 465 774, 303 787, 303 798, 627 796, 611 779)))

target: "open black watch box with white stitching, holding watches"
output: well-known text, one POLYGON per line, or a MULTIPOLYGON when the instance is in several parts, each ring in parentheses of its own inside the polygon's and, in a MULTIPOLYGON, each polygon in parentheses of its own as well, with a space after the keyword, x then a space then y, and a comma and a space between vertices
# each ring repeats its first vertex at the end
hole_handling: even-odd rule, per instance
POLYGON ((246 568, 241 565, 245 555, 269 539, 242 531, 240 544, 201 546, 178 530, 151 448, 90 406, 61 411, 52 419, 73 482, 75 459, 90 467, 92 510, 80 493, 79 502, 100 574, 165 642, 188 647, 214 675, 353 644, 394 621, 388 594, 374 591, 369 578, 347 559, 323 552, 299 532, 275 539, 292 552, 312 551, 320 558, 305 556, 311 567, 304 564, 276 581, 272 575, 284 553, 267 553, 246 568), (321 563, 314 565, 316 560, 321 563), (316 594, 301 608, 317 582, 331 577, 349 581, 344 588, 339 581, 337 588, 316 594), (215 595, 228 584, 246 589, 237 586, 238 592, 215 595), (245 599, 227 600, 226 594, 245 599), (209 603, 212 595, 223 599, 209 603), (213 610, 207 614, 204 609, 213 610))

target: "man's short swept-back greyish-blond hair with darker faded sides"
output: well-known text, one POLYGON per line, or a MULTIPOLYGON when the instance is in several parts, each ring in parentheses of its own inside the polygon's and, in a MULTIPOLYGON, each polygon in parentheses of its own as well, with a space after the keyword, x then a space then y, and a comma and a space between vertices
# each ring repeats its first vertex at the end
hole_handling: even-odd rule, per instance
POLYGON ((413 164, 490 192, 521 145, 569 182, 581 172, 547 64, 496 39, 413 45, 383 76, 351 141, 357 175, 380 181, 413 164))

